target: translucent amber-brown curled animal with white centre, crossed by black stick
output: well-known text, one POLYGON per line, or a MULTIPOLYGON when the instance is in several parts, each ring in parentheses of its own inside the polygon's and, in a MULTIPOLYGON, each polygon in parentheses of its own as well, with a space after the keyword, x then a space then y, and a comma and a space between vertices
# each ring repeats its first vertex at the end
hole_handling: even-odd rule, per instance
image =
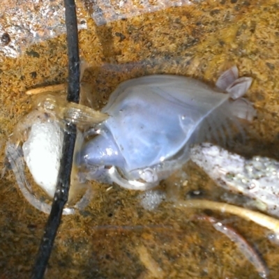
MULTIPOLYGON (((61 86, 58 88, 61 89, 61 86)), ((48 197, 53 198, 62 155, 63 130, 67 129, 65 120, 82 129, 105 120, 107 115, 85 105, 68 103, 65 93, 50 92, 48 88, 45 90, 46 92, 34 96, 31 112, 15 126, 6 145, 6 156, 24 197, 40 211, 50 213, 50 204, 38 199, 34 188, 27 181, 26 167, 33 176, 33 181, 48 197)), ((80 142, 82 133, 79 131, 75 146, 79 146, 80 142)), ((75 166, 72 169, 71 183, 80 188, 79 174, 75 166)), ((73 187, 72 190, 74 191, 73 187)), ((73 191, 70 190, 70 199, 73 191)), ((89 195, 90 189, 75 206, 83 206, 89 195)), ((73 212, 74 209, 63 210, 64 214, 73 212)))

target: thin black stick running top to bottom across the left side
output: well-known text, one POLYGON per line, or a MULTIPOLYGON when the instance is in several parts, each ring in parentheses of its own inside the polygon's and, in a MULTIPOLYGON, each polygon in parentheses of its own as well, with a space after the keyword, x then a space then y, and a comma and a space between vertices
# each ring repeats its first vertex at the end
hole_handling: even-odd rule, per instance
MULTIPOLYGON (((69 102, 78 103, 80 100, 80 56, 77 36, 77 15, 75 0, 64 0, 67 44, 68 44, 68 96, 69 102)), ((32 279, 43 278, 47 262, 52 252, 52 246, 60 224, 63 207, 68 201, 70 189, 70 173, 73 165, 73 153, 77 129, 73 123, 66 123, 64 132, 63 149, 56 192, 52 203, 52 210, 47 220, 45 233, 40 243, 35 265, 33 266, 32 279)))

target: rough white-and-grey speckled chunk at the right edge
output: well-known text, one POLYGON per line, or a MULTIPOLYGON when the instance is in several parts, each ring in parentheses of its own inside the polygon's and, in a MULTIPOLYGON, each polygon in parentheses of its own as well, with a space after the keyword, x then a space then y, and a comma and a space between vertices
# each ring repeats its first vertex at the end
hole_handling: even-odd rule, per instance
POLYGON ((278 161, 260 156, 246 159, 209 143, 193 147, 190 158, 219 186, 256 199, 266 212, 279 216, 278 161))

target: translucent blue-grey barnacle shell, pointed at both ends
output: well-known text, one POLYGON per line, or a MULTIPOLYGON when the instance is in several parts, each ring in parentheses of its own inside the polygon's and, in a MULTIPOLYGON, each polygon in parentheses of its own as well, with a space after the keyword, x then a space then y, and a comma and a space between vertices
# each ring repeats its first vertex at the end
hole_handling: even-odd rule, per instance
POLYGON ((229 119, 228 99, 229 94, 190 77, 150 75, 123 82, 103 108, 110 117, 98 127, 101 135, 83 147, 80 163, 116 165, 124 172, 158 165, 195 142, 204 119, 218 108, 229 119), (113 160, 107 142, 116 145, 113 160))

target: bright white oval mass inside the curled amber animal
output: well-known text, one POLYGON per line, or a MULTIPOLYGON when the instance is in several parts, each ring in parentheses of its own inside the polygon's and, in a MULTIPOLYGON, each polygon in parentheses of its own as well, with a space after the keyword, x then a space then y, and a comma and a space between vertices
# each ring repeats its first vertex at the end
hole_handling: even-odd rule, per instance
POLYGON ((54 197, 63 144, 63 131, 57 122, 35 123, 22 145, 24 160, 34 181, 54 197))

